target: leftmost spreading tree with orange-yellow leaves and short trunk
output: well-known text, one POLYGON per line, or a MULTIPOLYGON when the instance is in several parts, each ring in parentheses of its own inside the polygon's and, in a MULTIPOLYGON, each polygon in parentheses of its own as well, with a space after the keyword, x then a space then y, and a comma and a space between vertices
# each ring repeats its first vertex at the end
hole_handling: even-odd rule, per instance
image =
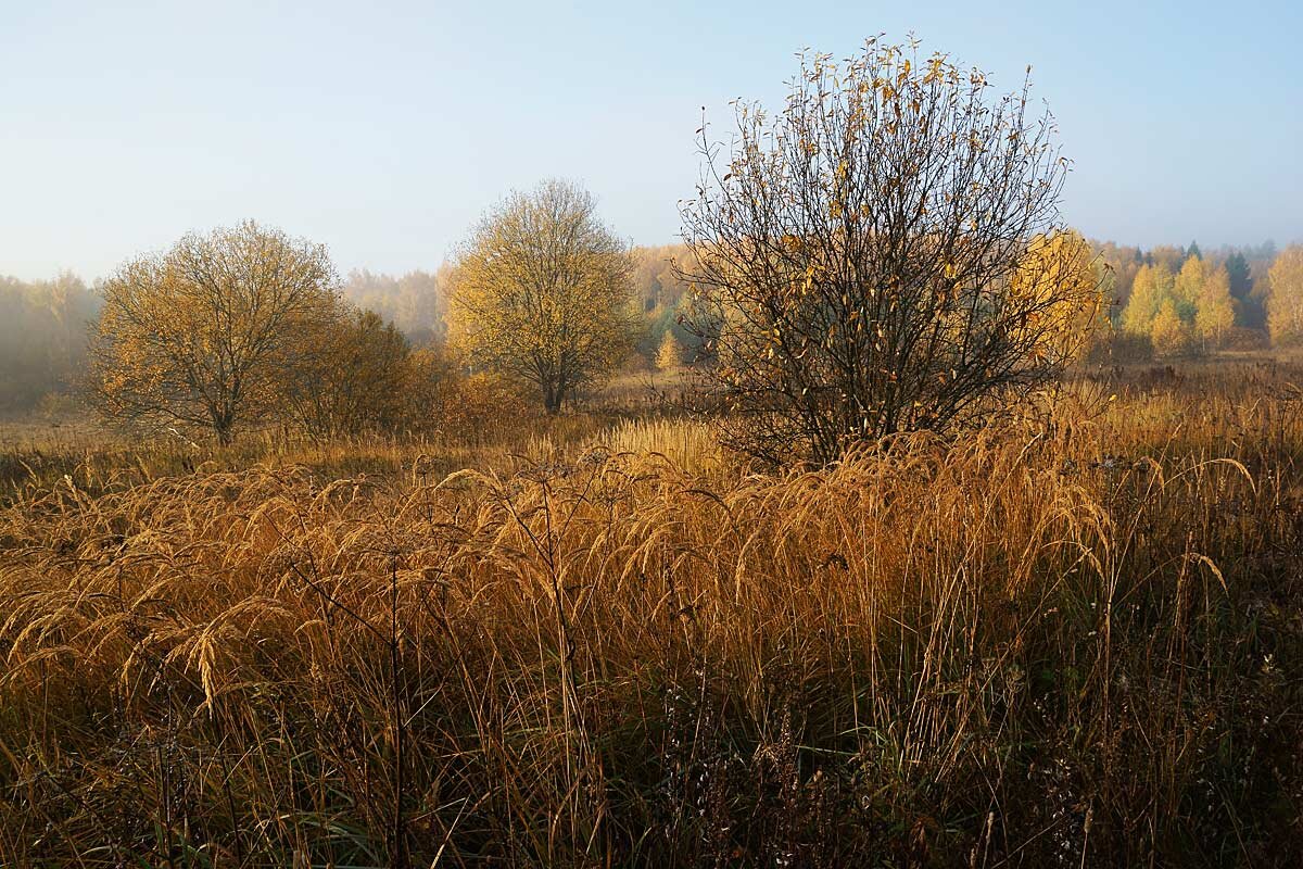
POLYGON ((253 221, 132 261, 102 288, 93 400, 112 421, 206 429, 229 444, 270 416, 336 283, 323 246, 253 221))

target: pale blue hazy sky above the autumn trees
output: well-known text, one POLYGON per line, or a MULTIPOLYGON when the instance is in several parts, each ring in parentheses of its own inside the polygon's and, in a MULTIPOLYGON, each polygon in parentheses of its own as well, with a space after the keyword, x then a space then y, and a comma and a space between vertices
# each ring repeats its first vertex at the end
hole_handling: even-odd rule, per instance
POLYGON ((1063 216, 1140 244, 1303 240, 1303 10, 1276 3, 0 0, 0 274, 87 280, 244 219, 341 272, 433 270, 513 189, 572 178, 679 232, 702 109, 779 107, 803 48, 921 39, 1072 160, 1063 216))

